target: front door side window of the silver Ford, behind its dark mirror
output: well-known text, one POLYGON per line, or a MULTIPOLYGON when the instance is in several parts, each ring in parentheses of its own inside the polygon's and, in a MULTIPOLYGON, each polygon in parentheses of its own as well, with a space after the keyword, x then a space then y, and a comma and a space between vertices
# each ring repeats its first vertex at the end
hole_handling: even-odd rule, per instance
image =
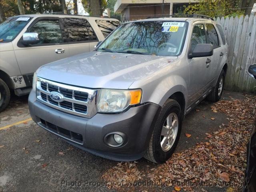
POLYGON ((197 24, 193 28, 190 40, 190 52, 193 52, 197 44, 206 43, 206 35, 203 24, 197 24))

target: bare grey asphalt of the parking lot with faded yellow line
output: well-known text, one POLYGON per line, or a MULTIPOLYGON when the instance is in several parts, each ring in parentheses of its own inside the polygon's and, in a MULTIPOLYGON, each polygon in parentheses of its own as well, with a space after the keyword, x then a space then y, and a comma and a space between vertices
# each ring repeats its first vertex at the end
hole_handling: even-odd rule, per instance
MULTIPOLYGON (((224 92, 222 99, 243 97, 224 92)), ((40 128, 30 118, 27 99, 12 97, 10 106, 0 113, 0 191, 117 191, 107 188, 102 175, 118 162, 75 148, 40 128)), ((176 152, 204 141, 206 132, 227 122, 226 114, 213 113, 210 106, 212 103, 203 101, 186 116, 176 152), (186 133, 192 136, 187 138, 186 133)), ((141 170, 157 166, 143 158, 138 162, 141 170)))

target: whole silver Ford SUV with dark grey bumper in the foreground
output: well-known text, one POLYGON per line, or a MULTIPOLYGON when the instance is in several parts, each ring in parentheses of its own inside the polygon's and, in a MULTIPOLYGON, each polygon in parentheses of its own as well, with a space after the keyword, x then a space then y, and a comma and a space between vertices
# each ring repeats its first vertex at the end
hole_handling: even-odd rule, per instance
POLYGON ((39 68, 30 114, 93 154, 162 163, 184 116, 206 97, 220 100, 227 50, 221 26, 209 18, 128 22, 94 51, 39 68))

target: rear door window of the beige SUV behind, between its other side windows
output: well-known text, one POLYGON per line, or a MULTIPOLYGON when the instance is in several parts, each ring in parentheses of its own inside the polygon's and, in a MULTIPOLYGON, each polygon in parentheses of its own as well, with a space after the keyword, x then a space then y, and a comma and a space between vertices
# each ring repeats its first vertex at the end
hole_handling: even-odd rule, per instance
POLYGON ((64 18, 70 42, 97 41, 92 26, 86 19, 64 18))

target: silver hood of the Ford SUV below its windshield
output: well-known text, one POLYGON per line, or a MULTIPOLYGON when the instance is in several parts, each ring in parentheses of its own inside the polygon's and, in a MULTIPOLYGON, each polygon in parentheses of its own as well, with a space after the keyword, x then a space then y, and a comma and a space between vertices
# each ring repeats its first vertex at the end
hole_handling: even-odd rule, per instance
POLYGON ((86 88, 128 89, 177 57, 96 52, 79 54, 39 68, 41 78, 86 88))

